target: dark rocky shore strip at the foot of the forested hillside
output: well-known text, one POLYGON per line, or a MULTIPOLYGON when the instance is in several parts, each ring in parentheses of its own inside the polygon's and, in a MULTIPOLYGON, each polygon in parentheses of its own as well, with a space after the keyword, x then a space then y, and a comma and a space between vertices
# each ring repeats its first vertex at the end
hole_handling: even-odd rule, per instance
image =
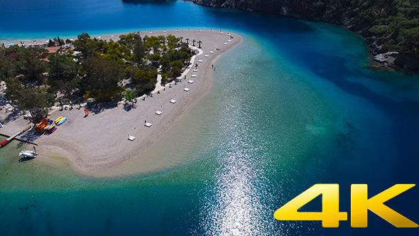
MULTIPOLYGON (((379 66, 372 68, 393 68, 402 72, 419 73, 419 58, 412 55, 403 54, 397 51, 383 49, 385 38, 372 36, 369 32, 368 23, 354 19, 353 12, 347 9, 337 9, 336 11, 327 11, 325 14, 316 14, 312 11, 310 14, 300 14, 297 4, 289 4, 289 6, 281 5, 277 1, 254 1, 248 4, 239 0, 192 0, 195 4, 202 6, 211 6, 225 9, 237 9, 241 11, 260 12, 265 14, 276 14, 290 18, 298 18, 308 21, 322 21, 332 23, 334 25, 344 26, 350 31, 359 33, 365 38, 365 43, 371 47, 371 60, 379 63, 379 66)), ((371 61, 373 64, 373 61, 371 61)))

